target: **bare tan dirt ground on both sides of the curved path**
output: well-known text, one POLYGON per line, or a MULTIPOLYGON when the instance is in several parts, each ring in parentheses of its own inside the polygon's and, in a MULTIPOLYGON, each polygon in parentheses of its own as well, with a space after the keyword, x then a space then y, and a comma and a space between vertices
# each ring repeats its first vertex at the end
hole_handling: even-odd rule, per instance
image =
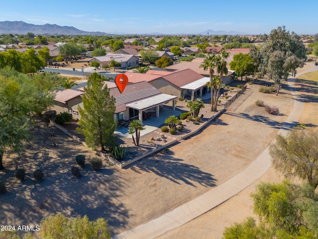
MULTIPOLYGON (((268 83, 258 81, 258 84, 268 83)), ((50 213, 63 212, 67 216, 87 215, 90 220, 106 218, 115 235, 202 195, 246 168, 274 139, 293 108, 294 100, 286 86, 279 96, 259 93, 257 84, 247 87, 232 110, 200 134, 170 147, 167 155, 151 155, 127 169, 104 162, 103 169, 98 172, 92 171, 87 163, 79 179, 71 174, 75 156, 84 154, 89 161, 96 155, 58 129, 40 123, 25 152, 4 155, 5 169, 0 171, 0 176, 5 180, 8 192, 0 196, 3 212, 0 221, 3 225, 37 225, 50 213), (277 106, 280 114, 267 114, 263 108, 255 106, 256 100, 277 106), (52 131, 55 137, 50 136, 52 131), (53 146, 53 142, 57 146, 53 146), (22 165, 26 168, 27 179, 21 183, 14 178, 14 169, 22 165), (45 174, 41 183, 33 180, 32 174, 37 168, 45 174)), ((264 177, 264 180, 275 178, 272 175, 264 177)), ((218 207, 215 216, 198 218, 205 222, 201 222, 200 228, 210 236, 215 235, 214 238, 221 238, 225 226, 250 215, 248 195, 249 191, 244 191, 238 195, 242 198, 231 199, 232 204, 229 200, 230 204, 223 209, 221 207, 228 202, 218 207), (234 209, 239 211, 234 212, 234 209), (211 217, 215 218, 214 226, 210 224, 211 217), (218 230, 219 233, 215 233, 218 230)), ((160 238, 190 238, 193 231, 195 238, 204 235, 199 230, 191 230, 192 227, 199 229, 191 223, 196 220, 169 232, 176 236, 167 233, 160 238)))

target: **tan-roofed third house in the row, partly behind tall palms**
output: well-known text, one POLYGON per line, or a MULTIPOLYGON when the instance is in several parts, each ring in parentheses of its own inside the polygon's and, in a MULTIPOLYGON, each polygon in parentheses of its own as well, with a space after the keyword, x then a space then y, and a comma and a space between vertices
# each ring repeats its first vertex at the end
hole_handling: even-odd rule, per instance
MULTIPOLYGON (((178 71, 178 70, 185 70, 185 69, 191 69, 192 71, 195 71, 196 73, 200 74, 203 77, 210 77, 209 70, 204 70, 200 67, 202 63, 199 62, 189 62, 189 61, 181 61, 177 64, 173 64, 171 66, 167 66, 163 68, 166 71, 178 71)), ((228 69, 230 69, 228 67, 228 69)), ((217 75, 217 70, 214 69, 215 76, 217 75)), ((223 75, 223 84, 228 85, 232 81, 232 75, 234 74, 234 71, 229 70, 228 74, 223 75)))

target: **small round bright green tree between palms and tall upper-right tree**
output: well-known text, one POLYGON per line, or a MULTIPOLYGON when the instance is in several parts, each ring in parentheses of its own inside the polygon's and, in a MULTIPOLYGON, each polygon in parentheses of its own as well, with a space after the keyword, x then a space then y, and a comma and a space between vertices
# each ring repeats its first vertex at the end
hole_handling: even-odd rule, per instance
POLYGON ((241 77, 254 73, 253 59, 249 54, 239 53, 233 56, 233 61, 230 62, 230 69, 235 71, 235 74, 241 77))

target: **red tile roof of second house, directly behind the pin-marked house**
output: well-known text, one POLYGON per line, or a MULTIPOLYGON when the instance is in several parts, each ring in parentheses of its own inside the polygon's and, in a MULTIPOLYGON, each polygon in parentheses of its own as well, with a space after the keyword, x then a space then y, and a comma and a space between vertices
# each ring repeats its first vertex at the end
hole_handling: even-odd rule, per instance
POLYGON ((182 87, 187 84, 190 84, 192 82, 195 82, 197 80, 202 79, 202 75, 199 73, 196 73, 195 71, 191 69, 185 69, 185 70, 179 70, 172 72, 169 75, 162 76, 164 80, 170 82, 172 85, 175 85, 176 87, 182 87))

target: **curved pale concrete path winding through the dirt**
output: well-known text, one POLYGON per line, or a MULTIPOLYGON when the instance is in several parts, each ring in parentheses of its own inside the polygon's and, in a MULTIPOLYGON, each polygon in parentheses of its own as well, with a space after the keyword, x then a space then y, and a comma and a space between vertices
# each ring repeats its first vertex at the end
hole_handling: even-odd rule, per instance
MULTIPOLYGON (((312 68, 311 68, 312 69, 312 68)), ((304 74, 301 72, 297 76, 304 74)), ((294 85, 294 82, 289 82, 294 85)), ((294 108, 286 119, 282 128, 278 131, 279 134, 285 135, 288 128, 295 126, 298 119, 302 115, 304 103, 297 100, 298 92, 292 92, 295 102, 294 108), (285 127, 285 125, 288 127, 285 127)), ((238 194, 240 191, 251 185, 255 180, 260 178, 270 167, 271 157, 269 155, 269 147, 267 147, 258 158, 253 161, 245 170, 240 172, 235 177, 212 189, 211 191, 199 196, 192 201, 183 204, 182 206, 168 212, 157 219, 154 219, 146 224, 140 225, 132 230, 118 234, 113 239, 153 239, 159 235, 177 228, 200 215, 217 207, 221 203, 227 201, 231 197, 238 194)))

